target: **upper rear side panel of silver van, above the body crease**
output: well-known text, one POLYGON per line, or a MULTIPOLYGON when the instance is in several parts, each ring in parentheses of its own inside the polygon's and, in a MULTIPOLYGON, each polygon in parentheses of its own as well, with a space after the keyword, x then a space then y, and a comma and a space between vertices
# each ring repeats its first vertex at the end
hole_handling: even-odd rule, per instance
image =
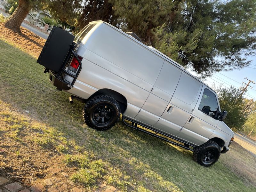
POLYGON ((98 25, 87 38, 86 43, 80 45, 124 71, 155 84, 164 63, 163 58, 105 23, 98 25))

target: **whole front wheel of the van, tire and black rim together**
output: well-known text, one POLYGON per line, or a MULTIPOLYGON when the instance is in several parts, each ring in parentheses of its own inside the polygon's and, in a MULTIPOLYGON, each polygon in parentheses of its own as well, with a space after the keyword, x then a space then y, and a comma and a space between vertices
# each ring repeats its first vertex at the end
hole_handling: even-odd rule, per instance
POLYGON ((195 161, 205 167, 215 164, 220 157, 220 146, 212 140, 195 148, 193 153, 195 161))

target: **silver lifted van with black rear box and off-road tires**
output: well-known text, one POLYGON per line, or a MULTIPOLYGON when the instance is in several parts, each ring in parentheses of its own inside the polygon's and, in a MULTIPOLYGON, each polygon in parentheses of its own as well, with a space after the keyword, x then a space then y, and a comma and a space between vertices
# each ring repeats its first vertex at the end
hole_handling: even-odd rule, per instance
POLYGON ((133 33, 93 21, 76 37, 54 27, 37 60, 50 81, 84 101, 85 123, 103 131, 124 124, 193 151, 210 166, 234 133, 223 122, 217 94, 133 33))

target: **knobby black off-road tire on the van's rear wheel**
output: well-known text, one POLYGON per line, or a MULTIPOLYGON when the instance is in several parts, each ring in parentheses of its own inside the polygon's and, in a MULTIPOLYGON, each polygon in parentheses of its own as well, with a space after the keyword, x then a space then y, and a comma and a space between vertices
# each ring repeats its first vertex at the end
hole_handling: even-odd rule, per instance
POLYGON ((119 120, 120 113, 121 110, 118 102, 113 97, 108 95, 96 95, 92 97, 86 102, 85 107, 83 109, 84 122, 89 127, 96 129, 98 131, 104 131, 106 129, 113 127, 119 120), (108 106, 109 110, 112 110, 113 112, 112 117, 105 124, 102 122, 101 124, 97 122, 93 115, 95 113, 95 110, 97 110, 100 106, 108 106))

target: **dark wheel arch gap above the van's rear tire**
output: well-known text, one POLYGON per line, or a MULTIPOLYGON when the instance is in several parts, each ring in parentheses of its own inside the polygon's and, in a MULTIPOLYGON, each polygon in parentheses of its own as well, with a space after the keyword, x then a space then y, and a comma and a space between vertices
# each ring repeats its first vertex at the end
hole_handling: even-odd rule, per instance
POLYGON ((91 97, 94 97, 94 96, 100 95, 100 94, 109 95, 109 96, 113 97, 118 102, 120 109, 121 109, 121 113, 124 113, 124 111, 127 108, 127 99, 124 97, 124 95, 122 95, 121 93, 116 92, 112 89, 100 89, 97 92, 93 93, 91 95, 91 97))

